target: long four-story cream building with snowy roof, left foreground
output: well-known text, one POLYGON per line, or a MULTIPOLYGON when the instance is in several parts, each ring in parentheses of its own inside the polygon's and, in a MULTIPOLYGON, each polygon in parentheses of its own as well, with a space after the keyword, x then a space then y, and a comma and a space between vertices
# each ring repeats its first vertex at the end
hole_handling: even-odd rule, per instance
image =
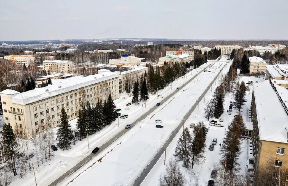
POLYGON ((30 139, 61 123, 60 111, 65 108, 68 121, 77 117, 80 105, 119 98, 119 74, 104 72, 87 77, 57 79, 53 85, 27 92, 0 92, 5 124, 10 123, 19 137, 30 139))

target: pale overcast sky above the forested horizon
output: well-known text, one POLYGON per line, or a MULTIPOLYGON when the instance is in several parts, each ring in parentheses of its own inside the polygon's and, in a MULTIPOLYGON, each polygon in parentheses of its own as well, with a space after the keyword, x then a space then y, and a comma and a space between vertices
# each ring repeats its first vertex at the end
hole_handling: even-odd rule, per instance
POLYGON ((9 0, 0 6, 0 41, 288 39, 287 8, 287 0, 9 0))

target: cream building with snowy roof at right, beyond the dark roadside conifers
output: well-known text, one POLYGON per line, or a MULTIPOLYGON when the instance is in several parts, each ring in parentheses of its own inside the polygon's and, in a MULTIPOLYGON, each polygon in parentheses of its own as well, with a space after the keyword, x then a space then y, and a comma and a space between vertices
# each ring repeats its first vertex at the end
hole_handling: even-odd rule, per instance
POLYGON ((250 62, 250 75, 260 75, 265 76, 266 73, 266 62, 259 57, 253 56, 249 57, 250 62))

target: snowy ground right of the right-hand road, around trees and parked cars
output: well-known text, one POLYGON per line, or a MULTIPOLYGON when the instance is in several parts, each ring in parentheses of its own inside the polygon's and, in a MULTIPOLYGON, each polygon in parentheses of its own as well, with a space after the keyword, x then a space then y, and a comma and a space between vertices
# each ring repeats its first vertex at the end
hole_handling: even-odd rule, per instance
MULTIPOLYGON (((253 81, 254 86, 255 86, 255 81, 261 82, 264 81, 263 78, 255 78, 255 77, 240 77, 240 81, 244 81, 247 83, 248 81, 253 81)), ((218 82, 219 83, 219 82, 218 82)), ((217 85, 218 85, 217 83, 217 85)), ((257 85, 257 83, 256 83, 257 85)), ((215 87, 214 87, 215 88, 215 87)), ((210 94, 206 94, 206 101, 211 99, 213 94, 210 92, 210 94)), ((189 127, 191 122, 197 123, 198 121, 204 121, 204 123, 209 126, 209 131, 207 134, 207 139, 206 139, 206 149, 204 152, 205 156, 205 161, 201 162, 198 165, 195 165, 193 168, 193 172, 196 174, 196 179, 198 179, 199 185, 207 185, 208 180, 211 179, 211 170, 213 169, 213 166, 215 163, 218 163, 219 160, 221 159, 221 154, 220 154, 220 146, 219 144, 222 143, 223 138, 225 137, 225 129, 227 126, 232 122, 234 115, 237 115, 238 112, 235 109, 232 109, 232 115, 228 115, 226 112, 227 109, 229 109, 230 101, 234 101, 232 98, 232 93, 228 93, 225 96, 225 113, 222 115, 221 118, 224 119, 223 124, 224 127, 215 127, 215 126, 209 126, 207 119, 204 118, 204 100, 200 102, 199 105, 199 114, 197 113, 198 110, 195 109, 193 114, 189 117, 189 119, 186 120, 185 126, 189 127), (217 138, 217 145, 214 148, 214 151, 209 151, 208 147, 211 144, 213 138, 217 138)), ((252 86, 249 87, 249 91, 246 92, 246 97, 245 100, 247 101, 245 105, 243 105, 243 109, 241 111, 241 115, 243 117, 244 122, 246 123, 246 126, 251 127, 251 122, 249 121, 249 112, 248 110, 250 109, 251 105, 251 99, 252 99, 252 86)), ((217 119, 214 119, 217 120, 217 119)), ((219 122, 219 120, 218 120, 219 122)), ((189 128, 190 132, 193 131, 193 129, 189 128)), ((174 153, 175 153, 175 147, 177 144, 177 140, 179 139, 180 135, 182 134, 182 129, 179 130, 178 134, 175 136, 173 141, 170 143, 170 145, 166 149, 166 162, 170 159, 175 159, 174 158, 174 153)), ((241 155, 239 156, 238 162, 240 163, 240 174, 245 174, 246 170, 246 164, 247 160, 249 157, 249 139, 243 139, 242 140, 242 145, 241 145, 241 155)), ((158 160, 158 162, 155 164, 153 169, 150 171, 150 173, 147 175, 147 177, 144 179, 142 182, 141 186, 154 186, 159 184, 159 177, 160 175, 163 175, 165 173, 165 165, 164 165, 164 153, 162 154, 161 158, 158 160)), ((179 166, 181 167, 182 173, 185 175, 186 178, 186 185, 190 185, 191 181, 191 170, 187 170, 186 168, 182 167, 182 162, 179 162, 179 166)), ((195 179, 195 177, 194 177, 195 179)))

